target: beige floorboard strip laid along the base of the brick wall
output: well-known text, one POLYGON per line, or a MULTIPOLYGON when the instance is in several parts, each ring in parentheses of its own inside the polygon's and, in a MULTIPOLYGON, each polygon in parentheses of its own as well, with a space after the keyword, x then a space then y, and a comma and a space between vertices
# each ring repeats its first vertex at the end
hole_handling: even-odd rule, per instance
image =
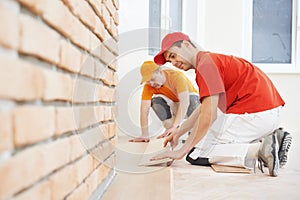
POLYGON ((129 143, 119 137, 116 147, 116 176, 103 194, 104 200, 168 200, 171 199, 170 167, 165 164, 141 166, 144 157, 163 150, 163 140, 150 143, 129 143))

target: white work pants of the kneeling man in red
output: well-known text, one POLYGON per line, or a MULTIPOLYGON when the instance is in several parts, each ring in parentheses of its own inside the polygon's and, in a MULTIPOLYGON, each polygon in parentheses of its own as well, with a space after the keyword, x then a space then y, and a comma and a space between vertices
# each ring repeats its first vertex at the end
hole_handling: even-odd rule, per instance
POLYGON ((224 114, 219 111, 216 121, 190 157, 209 158, 212 164, 245 167, 249 145, 279 127, 281 110, 280 106, 251 114, 224 114))

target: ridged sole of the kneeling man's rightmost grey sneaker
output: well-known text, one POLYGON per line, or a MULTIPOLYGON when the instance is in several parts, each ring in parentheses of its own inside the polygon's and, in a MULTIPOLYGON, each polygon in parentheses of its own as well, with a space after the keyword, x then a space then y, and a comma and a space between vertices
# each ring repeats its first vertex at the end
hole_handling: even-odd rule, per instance
POLYGON ((292 143, 292 135, 288 132, 284 132, 281 145, 278 151, 279 165, 283 167, 287 163, 287 155, 292 143))

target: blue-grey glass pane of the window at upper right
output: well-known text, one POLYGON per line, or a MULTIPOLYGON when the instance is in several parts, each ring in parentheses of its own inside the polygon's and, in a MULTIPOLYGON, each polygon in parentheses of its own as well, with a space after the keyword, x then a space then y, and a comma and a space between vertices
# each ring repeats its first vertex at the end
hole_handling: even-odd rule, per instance
POLYGON ((292 62, 292 0, 254 0, 252 62, 292 62))

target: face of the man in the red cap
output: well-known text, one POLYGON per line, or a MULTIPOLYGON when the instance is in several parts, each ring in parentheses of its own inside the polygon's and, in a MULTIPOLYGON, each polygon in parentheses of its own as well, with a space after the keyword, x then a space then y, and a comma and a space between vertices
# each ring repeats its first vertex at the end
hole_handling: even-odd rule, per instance
POLYGON ((177 67, 178 69, 188 71, 192 69, 192 64, 186 59, 187 49, 185 49, 184 45, 181 47, 172 46, 168 51, 164 53, 164 57, 167 62, 171 62, 173 66, 177 67))

